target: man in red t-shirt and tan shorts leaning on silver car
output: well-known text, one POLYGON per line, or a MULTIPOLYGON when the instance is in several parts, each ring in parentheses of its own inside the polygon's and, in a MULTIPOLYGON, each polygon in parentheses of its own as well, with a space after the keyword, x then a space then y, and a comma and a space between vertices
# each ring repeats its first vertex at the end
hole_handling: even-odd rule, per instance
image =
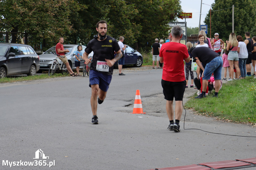
POLYGON ((59 38, 59 43, 56 45, 56 53, 61 56, 61 57, 59 57, 59 59, 66 65, 67 70, 68 70, 70 76, 76 77, 76 76, 78 76, 78 74, 75 74, 72 71, 72 68, 69 65, 68 59, 65 56, 65 53, 68 53, 69 50, 64 50, 63 42, 64 42, 63 37, 60 37, 59 38))

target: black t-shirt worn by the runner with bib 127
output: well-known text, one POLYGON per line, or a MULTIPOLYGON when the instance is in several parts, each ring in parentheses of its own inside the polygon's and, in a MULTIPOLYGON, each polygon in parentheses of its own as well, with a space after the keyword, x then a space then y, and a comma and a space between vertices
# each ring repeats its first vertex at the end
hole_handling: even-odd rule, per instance
MULTIPOLYGON (((92 63, 90 69, 98 71, 97 61, 105 62, 105 59, 113 59, 114 52, 119 51, 120 47, 116 41, 116 39, 107 36, 104 41, 98 41, 97 38, 92 39, 87 44, 86 49, 84 50, 86 53, 90 54, 93 51, 92 63)), ((109 67, 109 71, 99 71, 103 74, 112 75, 113 74, 113 66, 109 67)))

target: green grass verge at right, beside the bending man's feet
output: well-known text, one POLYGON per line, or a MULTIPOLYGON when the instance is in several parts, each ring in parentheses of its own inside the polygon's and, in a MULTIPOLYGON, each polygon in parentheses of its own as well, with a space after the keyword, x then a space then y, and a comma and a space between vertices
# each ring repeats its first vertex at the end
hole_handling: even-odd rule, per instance
POLYGON ((213 92, 205 99, 191 99, 185 104, 199 115, 215 116, 218 120, 256 126, 256 79, 246 77, 223 83, 218 98, 213 92))

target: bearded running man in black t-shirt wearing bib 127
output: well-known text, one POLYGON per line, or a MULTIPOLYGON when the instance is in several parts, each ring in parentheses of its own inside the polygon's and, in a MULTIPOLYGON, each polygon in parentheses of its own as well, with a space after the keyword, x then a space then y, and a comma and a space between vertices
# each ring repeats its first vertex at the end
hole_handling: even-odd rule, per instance
POLYGON ((96 26, 98 31, 94 39, 89 41, 83 53, 85 64, 91 63, 90 66, 90 84, 92 88, 91 107, 92 107, 92 124, 98 124, 97 117, 97 97, 98 103, 101 104, 106 97, 109 84, 112 79, 113 65, 122 57, 122 52, 116 39, 107 36, 107 22, 99 21, 96 26), (88 55, 93 51, 93 59, 88 55), (114 57, 114 51, 116 56, 114 57))

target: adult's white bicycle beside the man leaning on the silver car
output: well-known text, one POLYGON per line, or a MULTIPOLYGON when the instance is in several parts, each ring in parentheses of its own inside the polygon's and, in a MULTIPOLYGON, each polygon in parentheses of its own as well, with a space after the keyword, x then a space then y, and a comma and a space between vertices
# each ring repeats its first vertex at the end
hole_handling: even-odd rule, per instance
MULTIPOLYGON (((62 63, 61 66, 59 64, 59 61, 60 61, 59 57, 62 57, 62 56, 60 56, 58 54, 55 54, 54 52, 51 52, 51 53, 55 55, 55 59, 52 60, 52 64, 51 64, 51 67, 49 68, 48 75, 49 76, 54 75, 54 73, 56 72, 57 67, 61 71, 62 75, 65 75, 65 76, 68 75, 69 72, 67 70, 66 64, 62 63)), ((64 57, 62 57, 62 58, 64 58, 64 57)))

